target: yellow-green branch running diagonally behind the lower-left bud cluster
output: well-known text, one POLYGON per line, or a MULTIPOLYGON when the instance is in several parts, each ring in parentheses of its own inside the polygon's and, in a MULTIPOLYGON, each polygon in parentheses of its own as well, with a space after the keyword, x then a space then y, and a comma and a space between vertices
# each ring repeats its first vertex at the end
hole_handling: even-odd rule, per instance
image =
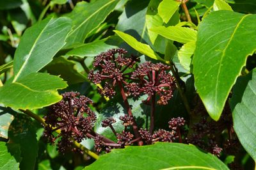
MULTIPOLYGON (((42 123, 42 125, 47 126, 47 123, 45 123, 45 120, 43 118, 41 118, 40 116, 36 115, 35 113, 29 111, 29 110, 22 110, 19 109, 20 111, 24 112, 25 114, 27 114, 28 116, 30 116, 31 118, 34 118, 36 121, 42 123)), ((55 127, 52 127, 55 128, 55 127)), ((60 129, 55 131, 57 134, 61 134, 60 129)), ((99 155, 97 155, 96 153, 94 153, 93 151, 88 150, 87 148, 85 148, 82 144, 77 143, 77 141, 74 141, 74 145, 79 148, 80 150, 82 150, 84 153, 90 155, 91 157, 98 159, 99 155)))

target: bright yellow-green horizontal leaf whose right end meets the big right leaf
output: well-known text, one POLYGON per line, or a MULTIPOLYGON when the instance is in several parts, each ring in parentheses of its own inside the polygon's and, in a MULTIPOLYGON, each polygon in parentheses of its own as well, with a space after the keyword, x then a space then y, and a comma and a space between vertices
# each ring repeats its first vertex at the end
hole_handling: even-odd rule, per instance
POLYGON ((154 27, 151 31, 156 32, 157 34, 164 36, 170 40, 188 43, 196 41, 196 31, 189 27, 179 27, 179 26, 170 26, 170 27, 154 27))

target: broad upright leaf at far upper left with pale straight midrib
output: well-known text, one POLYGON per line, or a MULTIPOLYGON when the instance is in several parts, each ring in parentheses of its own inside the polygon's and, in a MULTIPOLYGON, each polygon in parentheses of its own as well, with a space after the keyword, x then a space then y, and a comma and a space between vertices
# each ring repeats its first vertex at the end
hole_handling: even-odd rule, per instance
POLYGON ((15 52, 13 82, 29 73, 38 72, 50 63, 53 56, 65 45, 70 29, 71 20, 67 17, 45 19, 28 28, 15 52))

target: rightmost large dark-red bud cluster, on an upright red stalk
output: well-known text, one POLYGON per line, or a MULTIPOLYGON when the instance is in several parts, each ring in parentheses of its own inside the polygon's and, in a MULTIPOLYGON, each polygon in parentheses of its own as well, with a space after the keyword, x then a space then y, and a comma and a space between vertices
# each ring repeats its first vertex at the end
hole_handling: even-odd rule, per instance
POLYGON ((157 104, 166 105, 176 88, 174 78, 168 73, 169 70, 170 66, 146 61, 132 72, 131 79, 136 82, 131 82, 125 87, 133 96, 138 96, 141 93, 147 94, 148 98, 145 100, 147 104, 156 94, 159 96, 157 104))

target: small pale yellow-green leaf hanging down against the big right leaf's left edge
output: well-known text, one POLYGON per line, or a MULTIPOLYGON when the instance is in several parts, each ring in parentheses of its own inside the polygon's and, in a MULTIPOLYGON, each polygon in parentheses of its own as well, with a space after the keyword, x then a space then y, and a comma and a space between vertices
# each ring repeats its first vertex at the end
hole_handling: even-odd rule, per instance
POLYGON ((180 50, 178 51, 178 57, 180 64, 186 68, 186 70, 190 70, 192 55, 194 54, 194 50, 196 48, 196 42, 188 42, 185 43, 180 50))

